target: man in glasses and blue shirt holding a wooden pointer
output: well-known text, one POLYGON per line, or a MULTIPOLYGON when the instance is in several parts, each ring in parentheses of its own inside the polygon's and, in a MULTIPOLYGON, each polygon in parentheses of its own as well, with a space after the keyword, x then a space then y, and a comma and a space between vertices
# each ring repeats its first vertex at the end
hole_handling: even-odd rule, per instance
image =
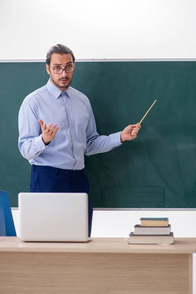
MULTIPOLYGON (((85 192, 84 154, 118 147, 137 137, 139 124, 99 136, 89 99, 70 87, 75 69, 72 50, 57 44, 46 59, 50 79, 29 94, 19 112, 19 149, 32 165, 30 192, 85 192)), ((93 208, 89 198, 89 237, 93 208)))

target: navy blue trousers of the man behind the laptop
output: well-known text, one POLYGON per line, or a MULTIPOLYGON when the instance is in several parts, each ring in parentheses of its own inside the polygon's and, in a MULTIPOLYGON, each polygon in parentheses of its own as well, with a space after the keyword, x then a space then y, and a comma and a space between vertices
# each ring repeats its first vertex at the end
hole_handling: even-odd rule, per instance
MULTIPOLYGON (((81 171, 63 170, 32 165, 30 192, 41 193, 87 193, 89 181, 81 171)), ((89 197, 89 237, 91 237, 93 208, 89 197)), ((77 216, 75 216, 77 217, 77 216)))

